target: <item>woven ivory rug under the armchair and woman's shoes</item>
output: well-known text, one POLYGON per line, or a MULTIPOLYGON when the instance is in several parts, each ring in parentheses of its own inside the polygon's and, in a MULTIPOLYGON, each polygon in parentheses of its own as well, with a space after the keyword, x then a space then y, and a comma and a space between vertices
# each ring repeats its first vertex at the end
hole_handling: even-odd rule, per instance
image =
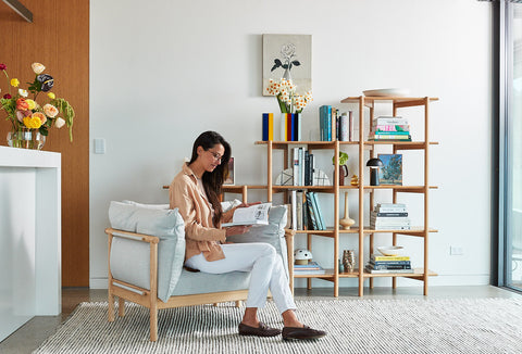
MULTIPOLYGON (((314 341, 237 334, 232 303, 162 309, 149 341, 147 308, 127 303, 107 320, 107 303, 83 303, 34 353, 522 353, 522 300, 297 301, 298 316, 328 334, 314 341)), ((260 319, 279 327, 272 302, 260 319)))

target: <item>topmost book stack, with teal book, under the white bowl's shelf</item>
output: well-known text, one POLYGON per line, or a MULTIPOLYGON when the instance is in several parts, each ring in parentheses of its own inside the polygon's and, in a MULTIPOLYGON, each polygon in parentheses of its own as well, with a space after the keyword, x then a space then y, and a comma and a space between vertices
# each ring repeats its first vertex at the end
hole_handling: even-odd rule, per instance
POLYGON ((368 140, 373 141, 411 141, 408 118, 380 116, 373 119, 368 140))

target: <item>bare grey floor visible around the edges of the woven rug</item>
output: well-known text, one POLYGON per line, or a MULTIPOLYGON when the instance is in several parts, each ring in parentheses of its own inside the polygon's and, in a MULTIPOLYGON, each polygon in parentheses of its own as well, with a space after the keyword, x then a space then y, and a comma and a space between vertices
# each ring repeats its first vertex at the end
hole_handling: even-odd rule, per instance
MULTIPOLYGON (((65 288, 62 291, 62 314, 59 316, 38 316, 30 319, 16 332, 0 342, 2 354, 29 354, 51 336, 74 308, 82 302, 107 302, 107 290, 89 290, 87 288, 65 288)), ((430 287, 431 299, 451 298, 514 298, 520 293, 492 286, 474 287, 430 287)), ((403 287, 397 290, 389 288, 364 289, 364 299, 422 299, 422 288, 403 287)), ((296 300, 333 299, 332 288, 314 288, 312 290, 296 289, 296 300)), ((357 289, 340 288, 339 299, 357 301, 357 289)))

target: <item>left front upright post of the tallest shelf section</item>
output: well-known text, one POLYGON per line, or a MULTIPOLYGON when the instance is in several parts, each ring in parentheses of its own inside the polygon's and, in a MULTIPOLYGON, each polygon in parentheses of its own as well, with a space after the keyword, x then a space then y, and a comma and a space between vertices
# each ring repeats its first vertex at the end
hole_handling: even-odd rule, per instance
POLYGON ((359 96, 359 296, 364 294, 364 97, 359 96))

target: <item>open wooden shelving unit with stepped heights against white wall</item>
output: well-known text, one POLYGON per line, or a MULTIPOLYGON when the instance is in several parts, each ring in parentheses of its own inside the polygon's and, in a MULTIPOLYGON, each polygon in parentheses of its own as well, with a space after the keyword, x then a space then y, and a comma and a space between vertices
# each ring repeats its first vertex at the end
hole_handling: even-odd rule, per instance
MULTIPOLYGON (((334 268, 326 269, 326 274, 322 275, 294 275, 294 269, 290 268, 290 281, 294 283, 294 278, 307 278, 308 287, 311 288, 311 279, 324 279, 332 281, 334 283, 334 296, 338 296, 339 288, 339 278, 358 278, 359 279, 359 296, 363 295, 363 286, 364 280, 369 279, 370 288, 373 288, 374 278, 390 277, 393 278, 393 288, 397 287, 397 278, 410 278, 417 279, 424 282, 423 293, 427 295, 427 286, 428 277, 436 276, 436 274, 428 269, 428 241, 430 233, 437 232, 437 230, 430 228, 430 191, 436 189, 435 186, 430 186, 428 181, 428 165, 430 165, 430 148, 436 146, 437 142, 430 141, 430 104, 431 102, 437 101, 437 98, 402 98, 402 97, 349 97, 341 101, 341 103, 356 103, 359 108, 359 138, 358 141, 258 141, 257 144, 266 146, 268 153, 268 185, 264 187, 268 190, 268 200, 273 200, 273 193, 284 192, 285 198, 289 191, 294 189, 299 190, 313 190, 321 193, 333 193, 334 194, 334 225, 333 228, 327 230, 288 230, 287 236, 289 237, 300 237, 301 235, 307 236, 307 243, 309 249, 311 249, 311 236, 326 237, 334 240, 334 268), (374 118, 374 105, 375 103, 391 103, 394 116, 397 115, 398 109, 411 108, 411 106, 424 106, 424 139, 422 141, 366 141, 364 137, 365 126, 364 119, 364 110, 369 109, 369 124, 371 124, 374 118), (309 151, 313 150, 333 150, 335 159, 334 170, 336 175, 334 177, 333 186, 274 186, 273 185, 273 151, 283 150, 284 151, 284 169, 288 168, 289 161, 289 151, 294 146, 307 146, 309 151), (338 153, 341 146, 358 146, 359 148, 359 180, 361 184, 359 186, 339 186, 337 172, 339 170, 338 153), (424 151, 424 184, 421 186, 363 186, 362 181, 364 180, 364 170, 365 170, 365 157, 364 152, 370 151, 370 157, 374 157, 375 148, 377 146, 391 146, 393 153, 398 153, 399 151, 407 150, 421 150, 424 151), (358 225, 366 225, 369 220, 364 220, 364 193, 370 193, 370 205, 369 208, 372 210, 374 206, 374 191, 376 190, 389 190, 393 193, 393 202, 397 202, 397 195, 399 193, 419 193, 424 197, 424 225, 412 228, 411 230, 372 230, 369 227, 357 227, 349 230, 339 229, 339 194, 343 191, 347 190, 358 190, 358 203, 359 203, 359 215, 358 215, 358 225), (366 223, 365 223, 366 222, 366 223), (369 242, 370 253, 373 253, 373 242, 374 235, 376 233, 391 233, 393 244, 397 244, 397 237, 410 236, 421 238, 424 241, 424 264, 423 268, 418 268, 412 274, 370 274, 360 271, 359 269, 364 269, 364 242, 369 242), (358 236, 358 246, 359 246, 359 256, 358 265, 355 271, 352 273, 339 273, 337 258, 339 257, 339 238, 340 237, 355 237, 358 236), (368 237, 368 239, 366 239, 368 237)), ((415 124, 415 123, 413 123, 415 124)), ((248 187, 249 188, 249 187, 248 187)), ((291 254, 291 252, 289 252, 291 254)), ((291 262, 293 263, 293 262, 291 262)))

